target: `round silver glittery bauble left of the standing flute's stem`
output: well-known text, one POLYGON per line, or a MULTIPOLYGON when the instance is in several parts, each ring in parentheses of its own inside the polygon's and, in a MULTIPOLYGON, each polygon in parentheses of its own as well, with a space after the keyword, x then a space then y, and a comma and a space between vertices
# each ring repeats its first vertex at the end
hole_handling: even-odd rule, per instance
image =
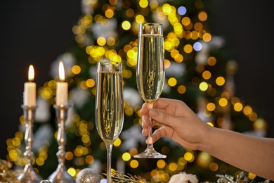
POLYGON ((76 183, 99 183, 100 175, 91 168, 84 168, 78 173, 75 181, 76 183))

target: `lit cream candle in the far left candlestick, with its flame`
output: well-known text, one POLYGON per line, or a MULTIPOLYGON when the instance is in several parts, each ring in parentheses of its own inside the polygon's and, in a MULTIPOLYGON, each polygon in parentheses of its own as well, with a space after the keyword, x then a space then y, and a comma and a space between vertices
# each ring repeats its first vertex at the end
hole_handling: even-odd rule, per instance
POLYGON ((34 68, 30 65, 29 68, 29 82, 24 84, 23 103, 24 106, 36 106, 36 83, 34 80, 34 68))

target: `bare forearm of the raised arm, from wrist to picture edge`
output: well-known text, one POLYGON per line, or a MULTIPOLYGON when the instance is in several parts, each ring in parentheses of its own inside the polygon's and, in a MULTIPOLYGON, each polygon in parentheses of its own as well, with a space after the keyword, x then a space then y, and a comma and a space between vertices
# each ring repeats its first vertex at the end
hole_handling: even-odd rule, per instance
POLYGON ((201 151, 259 177, 274 180, 274 139, 212 128, 201 151))

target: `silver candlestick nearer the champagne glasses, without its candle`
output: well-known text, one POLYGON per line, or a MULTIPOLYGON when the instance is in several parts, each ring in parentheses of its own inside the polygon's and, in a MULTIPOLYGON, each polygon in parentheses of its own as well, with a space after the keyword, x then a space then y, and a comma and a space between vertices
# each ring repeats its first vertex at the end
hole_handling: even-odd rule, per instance
POLYGON ((55 172, 53 172, 48 180, 52 183, 70 183, 75 182, 74 178, 67 172, 65 167, 65 145, 67 144, 67 137, 65 134, 65 121, 67 120, 67 110, 72 107, 72 103, 67 105, 54 106, 56 108, 56 118, 58 120, 58 152, 56 153, 58 157, 58 167, 55 172))

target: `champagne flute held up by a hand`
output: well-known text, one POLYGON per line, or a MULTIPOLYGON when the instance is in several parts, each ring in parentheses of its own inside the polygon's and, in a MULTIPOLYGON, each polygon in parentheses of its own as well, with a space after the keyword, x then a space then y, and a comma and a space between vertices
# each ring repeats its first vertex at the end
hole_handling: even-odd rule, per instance
MULTIPOLYGON (((164 87, 164 36, 162 24, 143 23, 138 35, 138 63, 136 69, 138 92, 148 106, 153 108, 164 87)), ((147 148, 134 158, 166 158, 158 153, 152 143, 152 121, 148 127, 147 148)))

